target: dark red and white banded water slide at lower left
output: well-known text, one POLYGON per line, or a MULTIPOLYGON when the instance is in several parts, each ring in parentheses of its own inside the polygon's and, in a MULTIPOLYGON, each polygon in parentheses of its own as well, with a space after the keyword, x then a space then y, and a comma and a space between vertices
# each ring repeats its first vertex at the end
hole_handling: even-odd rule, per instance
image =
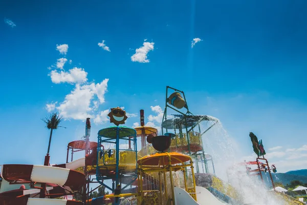
MULTIPOLYGON (((28 185, 30 182, 47 183, 47 192, 50 194, 56 194, 59 197, 67 194, 63 187, 71 192, 78 191, 82 188, 85 175, 83 173, 64 169, 59 167, 49 167, 42 165, 3 165, 1 167, 1 176, 3 178, 3 184, 1 186, 0 204, 18 204, 18 205, 80 205, 82 203, 73 200, 65 199, 50 199, 50 198, 31 198, 38 197, 40 189, 31 189, 28 185), (19 182, 19 185, 10 185, 9 182, 19 182), (16 186, 22 184, 16 189, 16 186), (12 189, 12 188, 15 189, 12 189)), ((35 185, 40 188, 39 185, 35 185)))

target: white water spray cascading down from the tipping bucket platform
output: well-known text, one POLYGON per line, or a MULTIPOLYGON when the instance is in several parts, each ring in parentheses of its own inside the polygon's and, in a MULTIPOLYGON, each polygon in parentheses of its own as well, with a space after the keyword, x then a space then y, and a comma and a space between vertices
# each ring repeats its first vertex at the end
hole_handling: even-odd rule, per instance
MULTIPOLYGON (((207 124, 210 123, 212 122, 207 122, 207 124)), ((202 123, 201 128, 206 130, 208 125, 202 123)), ((205 133, 202 139, 205 152, 211 154, 214 160, 216 175, 224 181, 228 181, 245 204, 286 204, 274 192, 268 191, 258 178, 248 176, 245 166, 236 165, 243 162, 240 157, 243 154, 240 153, 235 140, 228 135, 220 122, 217 122, 205 133)))

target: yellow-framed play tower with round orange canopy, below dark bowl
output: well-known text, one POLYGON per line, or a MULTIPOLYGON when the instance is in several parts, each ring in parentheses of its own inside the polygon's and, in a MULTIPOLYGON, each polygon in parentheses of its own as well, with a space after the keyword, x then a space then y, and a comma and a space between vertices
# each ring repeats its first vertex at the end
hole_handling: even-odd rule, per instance
POLYGON ((192 158, 176 152, 156 153, 138 160, 137 193, 110 194, 105 198, 137 196, 138 204, 175 204, 174 186, 191 193, 196 200, 192 158), (187 169, 190 169, 191 177, 187 177, 187 169))

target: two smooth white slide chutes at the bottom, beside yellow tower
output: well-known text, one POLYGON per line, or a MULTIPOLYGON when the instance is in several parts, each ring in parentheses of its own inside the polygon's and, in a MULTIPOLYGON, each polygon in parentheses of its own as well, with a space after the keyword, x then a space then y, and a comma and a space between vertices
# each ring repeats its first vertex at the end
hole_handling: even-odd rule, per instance
POLYGON ((174 195, 175 205, 225 205, 203 187, 196 187, 197 201, 188 192, 179 187, 174 187, 174 195))

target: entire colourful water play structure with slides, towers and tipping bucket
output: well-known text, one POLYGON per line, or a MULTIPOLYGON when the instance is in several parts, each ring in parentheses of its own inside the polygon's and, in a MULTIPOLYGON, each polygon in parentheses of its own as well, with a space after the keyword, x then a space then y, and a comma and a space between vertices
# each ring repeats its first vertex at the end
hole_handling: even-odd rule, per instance
POLYGON ((68 142, 65 163, 2 165, 0 205, 243 204, 239 193, 215 176, 213 158, 204 150, 202 136, 218 119, 192 114, 183 91, 166 87, 161 135, 157 128, 145 126, 144 110, 140 110, 140 127, 136 128, 122 126, 127 116, 119 107, 112 108, 108 116, 115 126, 100 129, 97 141, 90 141, 91 121, 86 119, 85 136, 68 142), (175 113, 168 115, 170 111, 175 113), (210 122, 204 131, 203 121, 210 122), (114 146, 106 148, 109 144, 114 146), (122 149, 123 144, 127 149, 122 149), (84 157, 74 159, 83 152, 84 157), (101 186, 112 194, 90 199, 90 193, 101 186), (74 197, 77 194, 81 199, 74 197))

